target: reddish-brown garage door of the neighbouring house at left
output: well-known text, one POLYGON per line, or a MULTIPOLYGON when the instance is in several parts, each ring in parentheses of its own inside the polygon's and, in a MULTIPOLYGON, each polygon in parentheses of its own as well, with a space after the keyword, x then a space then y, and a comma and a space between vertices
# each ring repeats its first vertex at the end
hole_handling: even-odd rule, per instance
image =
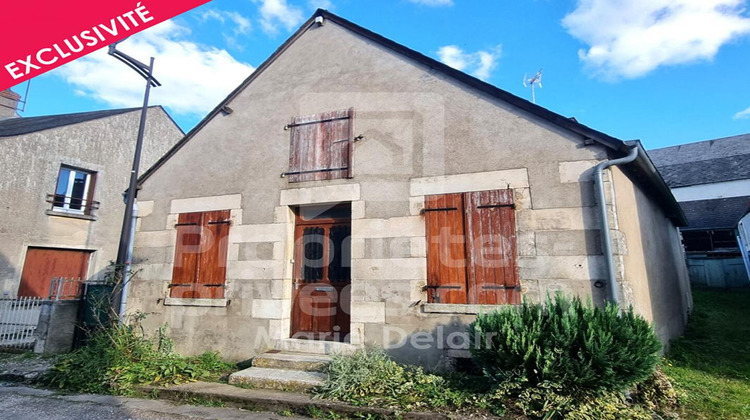
POLYGON ((29 248, 23 264, 18 296, 49 296, 53 277, 86 279, 91 251, 29 248))

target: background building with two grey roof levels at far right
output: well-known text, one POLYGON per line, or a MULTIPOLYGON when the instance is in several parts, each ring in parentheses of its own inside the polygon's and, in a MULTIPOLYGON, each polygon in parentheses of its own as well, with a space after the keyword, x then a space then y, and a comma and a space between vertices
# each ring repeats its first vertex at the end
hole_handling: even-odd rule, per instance
POLYGON ((737 223, 750 208, 750 134, 648 152, 688 218, 682 238, 697 286, 750 286, 737 223))

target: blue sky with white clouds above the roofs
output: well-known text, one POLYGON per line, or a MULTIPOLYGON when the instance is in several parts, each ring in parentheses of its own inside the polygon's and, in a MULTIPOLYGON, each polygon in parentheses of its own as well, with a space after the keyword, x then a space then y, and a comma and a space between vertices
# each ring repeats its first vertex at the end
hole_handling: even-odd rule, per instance
MULTIPOLYGON (((123 42, 156 56, 188 131, 317 7, 647 148, 750 132, 750 0, 213 0, 123 42)), ((14 88, 23 94, 25 84, 14 88)), ((144 83, 104 51, 31 81, 22 116, 139 106, 144 83)))

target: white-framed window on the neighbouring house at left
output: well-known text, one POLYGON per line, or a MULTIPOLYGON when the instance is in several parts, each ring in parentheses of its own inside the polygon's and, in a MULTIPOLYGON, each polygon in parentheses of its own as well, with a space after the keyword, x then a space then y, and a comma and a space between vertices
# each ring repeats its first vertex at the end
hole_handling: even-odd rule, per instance
POLYGON ((90 214, 93 209, 96 174, 67 166, 60 168, 52 209, 69 213, 90 214))

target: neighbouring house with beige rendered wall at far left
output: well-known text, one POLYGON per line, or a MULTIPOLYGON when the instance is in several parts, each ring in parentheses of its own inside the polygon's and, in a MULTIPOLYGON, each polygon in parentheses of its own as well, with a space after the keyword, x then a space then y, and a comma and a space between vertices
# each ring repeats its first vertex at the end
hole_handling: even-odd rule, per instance
MULTIPOLYGON (((141 109, 18 118, 18 95, 0 98, 0 291, 46 298, 53 277, 100 279, 117 255, 141 109)), ((151 107, 142 163, 182 135, 151 107)))

